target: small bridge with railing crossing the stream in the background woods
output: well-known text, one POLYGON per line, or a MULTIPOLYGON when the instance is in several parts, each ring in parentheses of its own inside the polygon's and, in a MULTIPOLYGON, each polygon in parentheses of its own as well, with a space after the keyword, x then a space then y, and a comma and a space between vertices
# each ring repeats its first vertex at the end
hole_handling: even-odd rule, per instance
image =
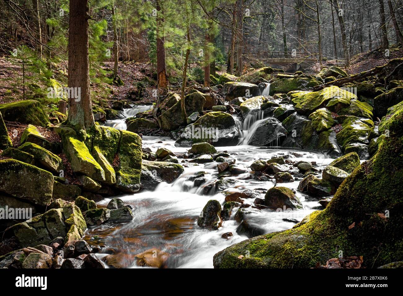
POLYGON ((309 64, 318 62, 319 55, 312 52, 257 52, 254 58, 265 64, 285 65, 293 62, 307 62, 309 64))

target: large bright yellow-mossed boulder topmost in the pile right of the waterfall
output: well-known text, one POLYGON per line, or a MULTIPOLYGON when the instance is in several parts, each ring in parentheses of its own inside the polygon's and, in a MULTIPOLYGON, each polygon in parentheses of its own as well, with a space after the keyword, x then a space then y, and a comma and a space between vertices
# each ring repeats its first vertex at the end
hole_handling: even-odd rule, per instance
POLYGON ((325 87, 320 91, 291 94, 291 101, 295 106, 295 110, 303 115, 310 115, 316 109, 325 107, 326 103, 330 103, 332 99, 337 99, 332 101, 333 104, 337 105, 340 100, 348 103, 351 99, 357 99, 357 96, 334 85, 325 87))

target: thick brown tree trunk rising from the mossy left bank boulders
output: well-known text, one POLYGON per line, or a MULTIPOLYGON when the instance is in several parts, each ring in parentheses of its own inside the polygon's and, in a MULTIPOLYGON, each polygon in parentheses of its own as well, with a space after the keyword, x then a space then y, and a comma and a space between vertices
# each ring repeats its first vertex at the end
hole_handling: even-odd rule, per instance
POLYGON ((70 0, 69 16, 69 117, 76 129, 95 124, 89 89, 88 15, 87 1, 70 0), (71 95, 72 93, 78 95, 71 95))

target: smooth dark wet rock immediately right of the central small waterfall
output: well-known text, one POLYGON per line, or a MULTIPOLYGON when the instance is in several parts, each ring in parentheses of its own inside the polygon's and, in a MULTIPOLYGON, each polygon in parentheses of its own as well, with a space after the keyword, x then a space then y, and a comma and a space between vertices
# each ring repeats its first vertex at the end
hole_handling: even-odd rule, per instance
POLYGON ((248 145, 255 146, 280 146, 287 136, 287 130, 280 121, 270 117, 258 125, 253 132, 248 145))

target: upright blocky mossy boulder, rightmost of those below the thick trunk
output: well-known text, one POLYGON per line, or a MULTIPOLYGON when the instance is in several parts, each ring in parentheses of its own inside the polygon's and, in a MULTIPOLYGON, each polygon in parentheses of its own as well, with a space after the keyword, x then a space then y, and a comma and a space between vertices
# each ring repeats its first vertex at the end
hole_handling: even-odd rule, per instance
POLYGON ((139 135, 120 130, 116 187, 124 192, 135 193, 140 189, 141 145, 139 135))

